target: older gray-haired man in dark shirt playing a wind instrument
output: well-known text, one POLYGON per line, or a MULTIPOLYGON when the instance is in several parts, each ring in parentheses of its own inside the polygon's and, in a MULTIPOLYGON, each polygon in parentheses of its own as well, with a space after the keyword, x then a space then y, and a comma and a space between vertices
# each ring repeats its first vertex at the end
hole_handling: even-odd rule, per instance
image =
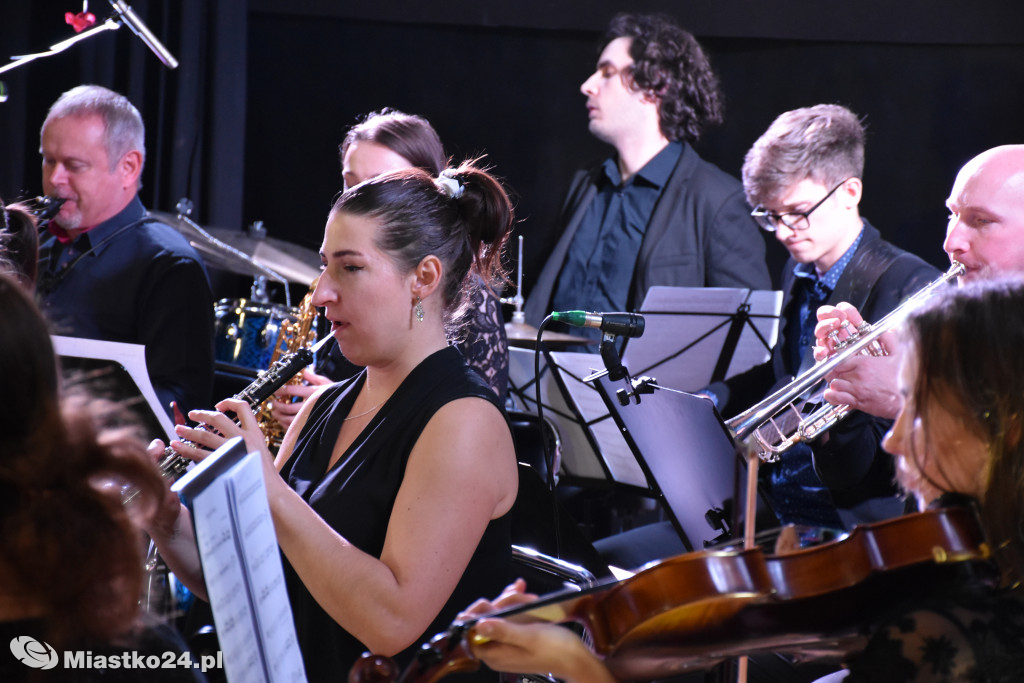
POLYGON ((43 190, 65 200, 39 255, 54 332, 145 346, 170 411, 210 404, 213 295, 199 254, 138 199, 145 129, 126 97, 96 85, 63 93, 40 133, 43 190))

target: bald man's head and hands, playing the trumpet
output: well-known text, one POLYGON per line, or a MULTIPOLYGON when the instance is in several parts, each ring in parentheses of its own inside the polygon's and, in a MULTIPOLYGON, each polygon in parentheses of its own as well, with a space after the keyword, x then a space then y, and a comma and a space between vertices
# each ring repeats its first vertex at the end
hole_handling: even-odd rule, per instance
MULTIPOLYGON (((949 222, 942 248, 950 261, 966 267, 961 284, 1024 272, 1024 144, 993 147, 969 161, 956 175, 946 207, 949 222)), ((818 360, 831 354, 834 342, 828 336, 844 322, 857 326, 865 318, 874 319, 847 301, 822 306, 817 318, 814 357, 818 360)), ((885 335, 883 343, 889 355, 854 356, 828 375, 825 400, 894 418, 901 402, 896 388, 900 349, 892 335, 885 335)), ((828 472, 817 463, 816 469, 828 484, 828 472)))

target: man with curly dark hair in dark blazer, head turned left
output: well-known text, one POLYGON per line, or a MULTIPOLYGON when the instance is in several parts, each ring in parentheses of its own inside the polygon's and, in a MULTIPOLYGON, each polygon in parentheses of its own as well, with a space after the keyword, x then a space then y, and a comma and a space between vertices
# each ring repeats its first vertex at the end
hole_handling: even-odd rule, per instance
POLYGON ((573 179, 527 321, 632 309, 654 285, 770 289, 742 187, 691 146, 722 120, 718 78, 693 36, 664 15, 621 14, 581 90, 590 132, 615 155, 573 179))

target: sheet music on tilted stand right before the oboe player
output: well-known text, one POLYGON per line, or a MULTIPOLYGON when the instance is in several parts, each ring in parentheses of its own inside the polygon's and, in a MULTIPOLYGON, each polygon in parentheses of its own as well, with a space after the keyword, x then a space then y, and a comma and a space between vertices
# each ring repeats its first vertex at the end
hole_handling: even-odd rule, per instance
POLYGON ((303 683, 305 670, 266 500, 260 454, 231 439, 174 484, 193 511, 231 681, 303 683))

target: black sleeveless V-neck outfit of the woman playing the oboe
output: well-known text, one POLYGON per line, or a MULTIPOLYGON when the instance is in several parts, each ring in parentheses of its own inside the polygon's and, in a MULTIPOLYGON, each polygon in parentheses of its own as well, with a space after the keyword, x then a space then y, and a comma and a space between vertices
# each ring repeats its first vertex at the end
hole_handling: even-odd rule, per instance
MULTIPOLYGON (((328 524, 364 552, 380 557, 391 508, 406 465, 430 418, 458 398, 484 398, 502 410, 495 392, 470 370, 454 347, 424 359, 384 403, 338 463, 327 471, 344 418, 366 380, 366 371, 327 389, 313 407, 295 452, 281 474, 328 524)), ((306 676, 311 683, 346 680, 366 647, 316 603, 288 559, 285 578, 306 676)), ((486 527, 455 593, 430 628, 395 658, 404 664, 419 645, 443 631, 456 614, 479 597, 498 595, 513 579, 510 519, 486 527)), ((454 680, 470 680, 457 676, 454 680)), ((476 680, 496 679, 481 674, 476 680)))

